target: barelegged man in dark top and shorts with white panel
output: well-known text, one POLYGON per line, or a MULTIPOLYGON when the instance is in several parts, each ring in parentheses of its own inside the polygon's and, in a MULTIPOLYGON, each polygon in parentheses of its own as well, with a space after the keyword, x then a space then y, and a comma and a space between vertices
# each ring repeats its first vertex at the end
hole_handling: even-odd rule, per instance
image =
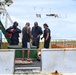
MULTIPOLYGON (((31 31, 30 31, 30 23, 27 22, 25 27, 22 29, 22 48, 28 49, 28 58, 30 59, 30 39, 31 39, 31 31)), ((22 50, 22 60, 24 60, 25 50, 22 50)))

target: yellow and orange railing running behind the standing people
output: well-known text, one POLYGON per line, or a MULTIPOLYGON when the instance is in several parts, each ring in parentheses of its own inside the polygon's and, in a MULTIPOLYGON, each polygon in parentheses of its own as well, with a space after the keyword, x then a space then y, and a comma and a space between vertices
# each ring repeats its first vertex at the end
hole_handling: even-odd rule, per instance
MULTIPOLYGON (((19 45, 21 45, 22 42, 19 43, 19 45)), ((40 42, 40 49, 42 49, 44 46, 44 42, 40 42)), ((2 48, 7 48, 8 46, 8 43, 6 41, 5 38, 2 38, 2 48)), ((65 40, 65 39, 55 39, 55 40, 51 40, 50 42, 50 47, 49 48, 52 48, 52 47, 76 47, 76 40, 65 40)))

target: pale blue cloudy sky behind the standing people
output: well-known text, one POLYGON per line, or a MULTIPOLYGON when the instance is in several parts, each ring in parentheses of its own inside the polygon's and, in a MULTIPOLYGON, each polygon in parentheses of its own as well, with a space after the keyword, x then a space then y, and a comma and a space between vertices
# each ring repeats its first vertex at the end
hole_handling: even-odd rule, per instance
POLYGON ((52 39, 76 39, 76 0, 13 0, 6 9, 21 29, 26 22, 33 27, 37 21, 43 30, 43 24, 48 24, 52 39), (41 14, 41 18, 36 14, 41 14), (58 14, 59 18, 46 14, 58 14))

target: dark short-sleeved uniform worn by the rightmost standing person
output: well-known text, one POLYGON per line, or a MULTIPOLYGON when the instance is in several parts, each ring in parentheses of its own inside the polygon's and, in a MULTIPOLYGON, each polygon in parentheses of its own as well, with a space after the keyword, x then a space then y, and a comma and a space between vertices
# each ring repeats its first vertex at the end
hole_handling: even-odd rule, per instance
POLYGON ((49 44, 50 44, 50 39, 51 39, 51 36, 50 36, 50 29, 47 28, 44 30, 44 48, 49 48, 49 44), (47 36, 47 33, 49 33, 49 38, 46 40, 46 36, 47 36))

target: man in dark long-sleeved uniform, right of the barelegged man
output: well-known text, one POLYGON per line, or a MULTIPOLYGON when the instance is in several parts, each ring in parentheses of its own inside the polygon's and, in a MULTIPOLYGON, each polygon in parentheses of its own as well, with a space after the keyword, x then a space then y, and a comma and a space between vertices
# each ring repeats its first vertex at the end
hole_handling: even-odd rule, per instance
POLYGON ((33 45, 39 48, 40 36, 42 35, 42 28, 38 26, 38 22, 34 23, 32 27, 32 37, 33 37, 33 45))

